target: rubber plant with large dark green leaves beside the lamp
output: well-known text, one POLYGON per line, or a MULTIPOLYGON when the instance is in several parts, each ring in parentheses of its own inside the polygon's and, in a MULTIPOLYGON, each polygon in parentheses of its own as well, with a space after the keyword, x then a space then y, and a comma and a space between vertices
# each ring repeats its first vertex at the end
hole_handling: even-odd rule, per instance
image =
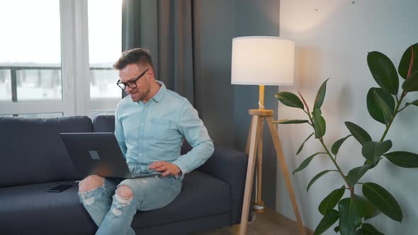
POLYGON ((414 52, 418 53, 418 43, 405 50, 397 70, 392 61, 383 53, 369 52, 367 55, 368 68, 378 87, 369 89, 366 96, 366 106, 371 117, 385 125, 385 130, 380 139, 372 139, 371 135, 362 127, 354 122, 347 121, 344 124, 347 127, 348 135, 337 139, 330 148, 327 147, 323 139, 326 132, 326 122, 322 116, 321 107, 324 102, 328 79, 322 83, 317 92, 312 112, 301 93, 298 92, 300 98, 290 92, 276 93, 278 101, 289 107, 300 108, 306 113, 307 119, 278 120, 274 123, 307 124, 312 127, 312 134, 305 139, 296 151, 296 154, 302 151, 303 145, 311 137, 315 137, 323 147, 323 151, 307 157, 293 171, 293 174, 305 169, 315 156, 324 154, 329 157, 335 168, 324 169, 324 171, 317 173, 307 184, 307 190, 320 177, 330 172, 338 173, 344 182, 341 188, 332 190, 320 202, 318 210, 323 215, 323 218, 317 225, 315 234, 322 234, 336 224, 337 221, 338 224, 334 227, 334 231, 339 232, 341 235, 382 234, 367 222, 367 219, 375 217, 379 213, 385 214, 396 222, 402 222, 402 209, 395 197, 382 185, 373 182, 362 183, 360 180, 367 171, 373 171, 373 168, 380 161, 384 161, 383 159, 388 159, 392 164, 403 168, 418 167, 418 154, 408 151, 390 151, 392 140, 385 138, 395 117, 402 110, 418 106, 418 100, 410 103, 403 102, 408 93, 418 91, 418 59, 417 56, 414 56, 414 52), (402 81, 401 88, 398 73, 402 81), (350 137, 354 137, 358 141, 358 147, 361 148, 361 155, 365 161, 362 166, 357 166, 348 173, 344 173, 339 166, 337 155, 341 145, 350 137), (349 191, 348 197, 344 197, 346 190, 349 191), (357 190, 361 190, 362 196, 356 193, 357 190))

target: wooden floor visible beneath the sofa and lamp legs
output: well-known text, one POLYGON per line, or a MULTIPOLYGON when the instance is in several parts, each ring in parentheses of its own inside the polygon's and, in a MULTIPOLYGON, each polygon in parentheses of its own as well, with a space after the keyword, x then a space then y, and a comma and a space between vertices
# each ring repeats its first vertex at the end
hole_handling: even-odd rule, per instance
MULTIPOLYGON (((253 222, 250 222, 247 235, 297 235, 298 227, 296 222, 283 215, 266 210, 263 214, 256 214, 253 222)), ((222 227, 210 231, 199 232, 192 235, 232 235, 232 227, 222 227)), ((313 234, 312 230, 306 228, 306 235, 313 234)))

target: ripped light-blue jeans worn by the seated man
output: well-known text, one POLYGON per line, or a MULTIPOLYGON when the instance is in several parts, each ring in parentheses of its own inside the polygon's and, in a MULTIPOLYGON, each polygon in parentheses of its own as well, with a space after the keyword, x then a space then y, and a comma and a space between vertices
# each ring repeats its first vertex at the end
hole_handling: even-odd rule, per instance
MULTIPOLYGON (((155 210, 168 205, 179 195, 181 179, 174 176, 103 178, 101 187, 79 193, 79 198, 97 224, 96 234, 134 235, 130 224, 137 210, 155 210), (132 190, 132 198, 123 198, 115 193, 121 185, 132 190)), ((79 185, 81 183, 83 181, 79 185)))

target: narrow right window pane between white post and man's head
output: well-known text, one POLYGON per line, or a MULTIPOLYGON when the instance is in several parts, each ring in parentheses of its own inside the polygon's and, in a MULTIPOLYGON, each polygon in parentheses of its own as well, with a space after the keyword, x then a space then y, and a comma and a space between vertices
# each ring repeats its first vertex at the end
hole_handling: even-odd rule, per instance
POLYGON ((122 50, 122 2, 89 0, 89 66, 91 117, 114 113, 122 97, 115 86, 113 63, 122 50))

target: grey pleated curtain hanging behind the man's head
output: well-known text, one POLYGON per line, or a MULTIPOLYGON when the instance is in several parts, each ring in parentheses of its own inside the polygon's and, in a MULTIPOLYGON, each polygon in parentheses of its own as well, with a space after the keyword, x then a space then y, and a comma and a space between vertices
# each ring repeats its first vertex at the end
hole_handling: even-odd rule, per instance
POLYGON ((122 50, 150 50, 156 79, 193 105, 191 0, 124 0, 122 50))

